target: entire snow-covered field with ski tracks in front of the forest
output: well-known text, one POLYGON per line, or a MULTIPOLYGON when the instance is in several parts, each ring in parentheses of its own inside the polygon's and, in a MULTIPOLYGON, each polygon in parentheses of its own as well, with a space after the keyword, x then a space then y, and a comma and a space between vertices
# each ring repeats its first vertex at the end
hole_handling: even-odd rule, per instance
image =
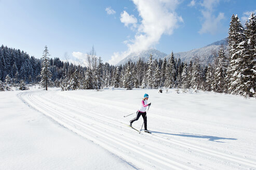
POLYGON ((256 169, 255 122, 254 98, 211 92, 0 92, 0 169, 256 169), (152 134, 125 125, 144 93, 152 134))

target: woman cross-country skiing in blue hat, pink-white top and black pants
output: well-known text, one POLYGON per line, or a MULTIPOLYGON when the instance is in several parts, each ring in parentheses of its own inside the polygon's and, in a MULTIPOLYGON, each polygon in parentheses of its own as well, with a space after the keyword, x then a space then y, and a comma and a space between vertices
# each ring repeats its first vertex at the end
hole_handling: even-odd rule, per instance
POLYGON ((132 123, 134 122, 134 121, 136 121, 136 120, 138 120, 139 118, 140 118, 140 116, 142 116, 143 117, 143 120, 144 120, 144 131, 145 132, 147 132, 147 133, 149 133, 149 131, 147 130, 147 127, 146 127, 146 107, 147 106, 150 106, 151 105, 151 103, 150 104, 147 104, 147 100, 149 99, 149 94, 144 94, 144 98, 142 99, 142 101, 141 101, 141 106, 140 106, 140 108, 138 109, 138 111, 137 111, 137 116, 136 116, 136 118, 134 118, 134 119, 132 119, 131 121, 130 121, 130 126, 132 126, 132 123))

